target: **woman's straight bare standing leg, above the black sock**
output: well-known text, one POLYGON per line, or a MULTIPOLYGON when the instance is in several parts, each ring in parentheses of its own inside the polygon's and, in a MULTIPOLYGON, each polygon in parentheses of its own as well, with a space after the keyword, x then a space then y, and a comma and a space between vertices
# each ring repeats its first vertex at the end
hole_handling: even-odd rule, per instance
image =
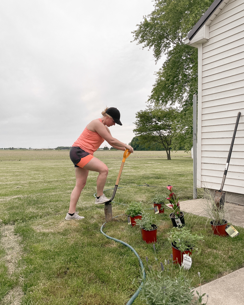
POLYGON ((75 168, 76 184, 70 196, 70 209, 69 209, 70 214, 73 214, 75 212, 77 202, 81 196, 81 191, 83 190, 86 184, 88 173, 89 170, 85 170, 84 168, 81 167, 75 168))

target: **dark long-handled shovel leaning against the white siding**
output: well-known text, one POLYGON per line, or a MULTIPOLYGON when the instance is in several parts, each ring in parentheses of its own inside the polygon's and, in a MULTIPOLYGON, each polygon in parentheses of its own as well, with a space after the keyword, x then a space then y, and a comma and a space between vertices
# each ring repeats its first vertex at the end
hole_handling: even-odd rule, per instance
POLYGON ((224 206, 225 192, 222 192, 222 190, 223 190, 223 187, 224 187, 224 181, 225 181, 226 174, 227 174, 228 167, 229 167, 229 163, 230 163, 231 152, 232 152, 232 148, 233 148, 233 145, 234 145, 235 134, 236 134, 236 130, 237 130, 237 127, 238 127, 240 116, 241 116, 241 113, 238 112, 236 123, 235 123, 235 129, 234 129, 234 133, 233 133, 233 137, 232 137, 232 141, 231 141, 231 146, 230 146, 229 154, 228 154, 225 169, 224 169, 224 175, 223 175, 221 187, 220 187, 219 191, 214 191, 214 193, 213 193, 213 198, 214 198, 214 201, 216 203, 217 208, 222 208, 224 206))

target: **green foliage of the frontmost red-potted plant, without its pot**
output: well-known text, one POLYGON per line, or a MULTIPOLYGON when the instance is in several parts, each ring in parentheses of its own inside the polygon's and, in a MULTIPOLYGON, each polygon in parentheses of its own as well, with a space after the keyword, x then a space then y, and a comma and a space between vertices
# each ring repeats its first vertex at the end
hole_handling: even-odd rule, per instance
POLYGON ((172 228, 168 235, 168 240, 182 252, 189 249, 192 249, 192 252, 197 251, 196 245, 203 239, 202 235, 193 235, 186 227, 172 228))

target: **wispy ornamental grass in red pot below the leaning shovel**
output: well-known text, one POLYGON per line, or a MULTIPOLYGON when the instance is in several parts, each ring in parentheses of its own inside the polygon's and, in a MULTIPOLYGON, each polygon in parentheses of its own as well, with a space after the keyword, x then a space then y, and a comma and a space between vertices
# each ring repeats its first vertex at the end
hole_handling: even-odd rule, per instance
POLYGON ((213 230, 213 234, 219 236, 228 236, 228 233, 225 231, 228 222, 225 220, 227 213, 226 204, 224 206, 217 206, 214 200, 213 195, 208 189, 205 189, 205 199, 206 204, 203 205, 203 209, 206 212, 207 217, 212 219, 210 225, 213 230))

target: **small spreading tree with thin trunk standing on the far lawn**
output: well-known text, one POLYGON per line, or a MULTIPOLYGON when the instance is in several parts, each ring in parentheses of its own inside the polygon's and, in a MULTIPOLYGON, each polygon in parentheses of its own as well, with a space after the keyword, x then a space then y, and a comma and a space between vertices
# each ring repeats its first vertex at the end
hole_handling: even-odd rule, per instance
POLYGON ((152 108, 147 107, 136 113, 136 128, 133 130, 140 136, 140 142, 146 146, 153 143, 163 145, 167 153, 167 159, 170 158, 170 147, 174 146, 179 130, 179 110, 172 107, 152 108))

